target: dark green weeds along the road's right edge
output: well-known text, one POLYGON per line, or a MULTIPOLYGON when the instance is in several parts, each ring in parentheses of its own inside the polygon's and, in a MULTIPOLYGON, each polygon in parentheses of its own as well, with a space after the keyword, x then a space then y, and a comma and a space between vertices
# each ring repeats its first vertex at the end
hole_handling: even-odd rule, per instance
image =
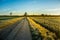
MULTIPOLYGON (((28 19, 27 19, 27 21, 29 23, 28 19)), ((30 28, 32 40, 42 40, 41 33, 39 33, 38 29, 33 29, 32 26, 30 25, 30 23, 29 23, 29 28, 30 28)))

